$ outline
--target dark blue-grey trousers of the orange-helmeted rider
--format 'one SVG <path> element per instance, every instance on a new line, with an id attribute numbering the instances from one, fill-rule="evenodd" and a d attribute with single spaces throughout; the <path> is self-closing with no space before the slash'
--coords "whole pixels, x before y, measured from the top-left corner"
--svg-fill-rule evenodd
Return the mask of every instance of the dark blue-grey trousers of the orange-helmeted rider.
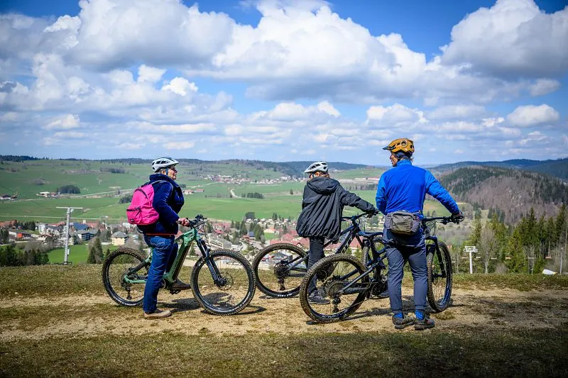
<path id="1" fill-rule="evenodd" d="M 388 297 L 391 299 L 391 310 L 395 314 L 403 312 L 403 267 L 408 261 L 414 279 L 414 307 L 424 311 L 428 279 L 426 243 L 422 230 L 412 236 L 400 237 L 385 229 L 383 243 L 388 260 Z"/>

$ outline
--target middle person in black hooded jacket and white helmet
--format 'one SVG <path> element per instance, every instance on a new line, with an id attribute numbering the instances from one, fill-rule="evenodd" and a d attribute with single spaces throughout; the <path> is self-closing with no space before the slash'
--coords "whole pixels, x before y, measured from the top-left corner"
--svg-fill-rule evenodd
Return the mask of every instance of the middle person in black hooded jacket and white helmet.
<path id="1" fill-rule="evenodd" d="M 296 231 L 303 238 L 310 238 L 310 255 L 307 269 L 324 257 L 324 240 L 336 240 L 341 233 L 344 206 L 355 206 L 366 213 L 377 213 L 375 206 L 356 194 L 343 189 L 329 177 L 327 162 L 314 162 L 304 171 L 309 179 L 304 188 L 302 212 L 297 218 Z M 308 301 L 312 304 L 329 304 L 318 292 L 315 280 L 307 288 Z"/>

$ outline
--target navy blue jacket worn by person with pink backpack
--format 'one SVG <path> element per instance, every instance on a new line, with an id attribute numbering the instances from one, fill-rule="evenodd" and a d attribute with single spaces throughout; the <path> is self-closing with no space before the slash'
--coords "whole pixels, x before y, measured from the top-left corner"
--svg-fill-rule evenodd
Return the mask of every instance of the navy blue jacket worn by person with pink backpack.
<path id="1" fill-rule="evenodd" d="M 161 181 L 161 182 L 158 182 Z M 178 213 L 183 206 L 182 189 L 173 179 L 165 174 L 152 174 L 150 182 L 154 183 L 154 199 L 152 206 L 158 211 L 158 222 L 139 226 L 143 233 L 148 235 L 175 235 L 178 233 Z"/>

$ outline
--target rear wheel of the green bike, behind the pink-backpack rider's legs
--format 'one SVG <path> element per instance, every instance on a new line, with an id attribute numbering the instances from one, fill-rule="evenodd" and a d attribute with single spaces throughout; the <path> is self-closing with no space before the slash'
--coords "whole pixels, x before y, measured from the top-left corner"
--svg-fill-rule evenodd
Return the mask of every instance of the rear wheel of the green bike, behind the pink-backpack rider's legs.
<path id="1" fill-rule="evenodd" d="M 149 263 L 138 250 L 121 247 L 112 252 L 102 265 L 104 289 L 117 304 L 140 306 L 148 279 Z"/>

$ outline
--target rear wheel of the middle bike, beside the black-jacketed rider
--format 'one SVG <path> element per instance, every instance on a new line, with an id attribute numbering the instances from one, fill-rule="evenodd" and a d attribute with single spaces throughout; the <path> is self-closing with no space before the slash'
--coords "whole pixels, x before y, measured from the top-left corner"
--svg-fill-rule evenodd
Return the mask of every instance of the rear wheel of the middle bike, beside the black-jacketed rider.
<path id="1" fill-rule="evenodd" d="M 290 298 L 300 291 L 306 274 L 305 250 L 290 243 L 269 245 L 256 254 L 253 270 L 256 286 L 275 298 Z"/>

